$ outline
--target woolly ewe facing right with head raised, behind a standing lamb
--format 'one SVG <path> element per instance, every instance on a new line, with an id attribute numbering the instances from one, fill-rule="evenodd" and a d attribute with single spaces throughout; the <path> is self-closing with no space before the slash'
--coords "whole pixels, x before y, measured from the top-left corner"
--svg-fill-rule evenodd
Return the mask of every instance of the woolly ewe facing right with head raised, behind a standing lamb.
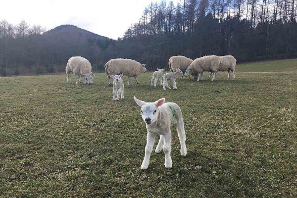
<path id="1" fill-rule="evenodd" d="M 135 60 L 123 59 L 123 58 L 111 59 L 105 64 L 104 67 L 105 67 L 105 73 L 108 76 L 109 85 L 111 85 L 111 78 L 109 74 L 119 75 L 122 73 L 126 75 L 128 79 L 128 85 L 130 85 L 129 77 L 134 77 L 137 84 L 139 84 L 137 77 L 141 73 L 147 71 L 146 64 L 140 64 Z"/>

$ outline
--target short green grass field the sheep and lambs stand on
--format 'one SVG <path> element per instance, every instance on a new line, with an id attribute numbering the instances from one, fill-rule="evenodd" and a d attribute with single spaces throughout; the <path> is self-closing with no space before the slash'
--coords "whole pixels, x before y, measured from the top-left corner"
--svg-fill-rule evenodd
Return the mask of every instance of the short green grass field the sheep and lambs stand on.
<path id="1" fill-rule="evenodd" d="M 0 78 L 0 197 L 296 198 L 297 60 L 237 71 L 166 92 L 146 73 L 120 101 L 103 73 L 77 87 L 74 75 Z M 188 155 L 172 128 L 172 169 L 163 153 L 140 169 L 146 127 L 133 96 L 180 105 Z"/>

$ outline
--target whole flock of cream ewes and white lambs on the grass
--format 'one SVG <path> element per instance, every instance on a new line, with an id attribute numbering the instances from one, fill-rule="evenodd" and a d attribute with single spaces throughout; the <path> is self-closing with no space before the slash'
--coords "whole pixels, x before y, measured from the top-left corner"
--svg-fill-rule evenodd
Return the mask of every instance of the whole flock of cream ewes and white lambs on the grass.
<path id="1" fill-rule="evenodd" d="M 210 75 L 208 79 L 214 81 L 218 71 L 228 71 L 228 79 L 230 79 L 230 72 L 233 73 L 233 80 L 235 79 L 235 65 L 236 59 L 231 55 L 216 56 L 209 55 L 195 59 L 194 61 L 185 56 L 172 56 L 169 59 L 169 69 L 171 72 L 163 75 L 164 69 L 157 69 L 153 72 L 150 84 L 152 87 L 156 87 L 156 83 L 159 80 L 160 85 L 166 91 L 166 88 L 170 89 L 168 82 L 171 80 L 173 83 L 173 89 L 177 89 L 175 79 L 179 76 L 182 78 L 194 76 L 197 81 L 200 80 L 200 76 L 203 79 L 203 72 L 208 71 Z M 92 84 L 94 79 L 94 73 L 91 71 L 91 63 L 83 57 L 74 56 L 69 58 L 66 66 L 67 81 L 69 74 L 72 71 L 76 75 L 76 85 L 80 82 L 80 77 L 84 78 L 84 84 Z M 119 100 L 124 98 L 124 82 L 122 76 L 126 75 L 128 78 L 128 85 L 130 85 L 129 77 L 134 77 L 137 84 L 139 83 L 137 77 L 146 72 L 146 65 L 141 64 L 131 59 L 111 59 L 105 64 L 105 73 L 108 76 L 109 85 L 111 85 L 111 79 L 113 79 L 112 86 L 112 99 Z M 182 156 L 187 155 L 186 148 L 186 133 L 184 128 L 183 115 L 178 104 L 174 102 L 166 102 L 165 99 L 158 99 L 155 102 L 145 102 L 134 97 L 135 102 L 141 106 L 142 118 L 147 127 L 147 145 L 145 148 L 145 157 L 141 165 L 141 169 L 147 169 L 149 165 L 150 154 L 153 149 L 153 144 L 156 135 L 160 135 L 158 145 L 155 149 L 156 153 L 159 153 L 162 149 L 165 153 L 165 167 L 172 167 L 171 160 L 171 130 L 172 124 L 176 124 L 178 137 L 180 139 L 180 153 Z"/>

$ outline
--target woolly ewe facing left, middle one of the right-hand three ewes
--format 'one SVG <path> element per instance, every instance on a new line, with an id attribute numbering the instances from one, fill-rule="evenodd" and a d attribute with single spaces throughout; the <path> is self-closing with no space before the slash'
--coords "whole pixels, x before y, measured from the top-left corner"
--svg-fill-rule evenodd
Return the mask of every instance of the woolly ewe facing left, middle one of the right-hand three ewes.
<path id="1" fill-rule="evenodd" d="M 184 76 L 186 77 L 190 75 L 195 76 L 196 74 L 198 74 L 197 81 L 199 81 L 200 75 L 204 71 L 210 71 L 214 73 L 211 79 L 211 81 L 214 81 L 216 77 L 216 72 L 220 68 L 220 64 L 221 64 L 220 58 L 219 56 L 216 56 L 216 55 L 209 55 L 209 56 L 196 58 L 191 63 L 191 65 L 186 69 L 186 73 L 184 74 Z"/>

